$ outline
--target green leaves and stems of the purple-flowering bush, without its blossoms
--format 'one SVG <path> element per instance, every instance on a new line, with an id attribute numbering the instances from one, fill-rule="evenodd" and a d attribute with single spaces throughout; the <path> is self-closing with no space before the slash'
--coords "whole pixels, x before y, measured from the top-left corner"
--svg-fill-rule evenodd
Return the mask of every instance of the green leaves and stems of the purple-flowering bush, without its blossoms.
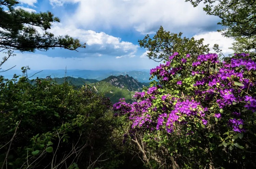
<path id="1" fill-rule="evenodd" d="M 152 82 L 151 86 L 155 87 L 160 84 L 161 87 L 157 87 L 154 94 L 149 94 L 149 90 L 145 89 L 144 95 L 141 96 L 142 99 L 138 101 L 138 103 L 143 103 L 148 100 L 152 104 L 150 107 L 144 108 L 143 105 L 145 104 L 132 106 L 124 102 L 119 102 L 121 104 L 116 105 L 121 110 L 119 112 L 120 116 L 117 117 L 120 121 L 119 132 L 129 135 L 127 136 L 129 138 L 126 138 L 127 147 L 138 153 L 147 168 L 175 168 L 175 165 L 179 165 L 177 168 L 191 169 L 214 167 L 255 168 L 255 112 L 246 109 L 246 103 L 237 100 L 223 108 L 220 108 L 220 105 L 216 102 L 216 99 L 222 98 L 219 93 L 227 88 L 233 88 L 239 92 L 236 94 L 231 90 L 232 92 L 229 92 L 226 96 L 234 94 L 242 99 L 245 95 L 250 94 L 254 98 L 255 86 L 241 90 L 246 85 L 244 81 L 239 80 L 236 75 L 225 77 L 226 72 L 229 72 L 228 69 L 231 69 L 231 65 L 228 63 L 231 59 L 235 60 L 239 56 L 226 58 L 226 62 L 218 61 L 215 64 L 214 61 L 208 59 L 201 61 L 200 65 L 194 67 L 189 65 L 193 64 L 197 58 L 187 57 L 186 63 L 183 64 L 181 60 L 184 58 L 186 58 L 186 55 L 176 55 L 174 59 L 168 61 L 170 67 L 162 67 L 162 70 L 170 71 L 183 66 L 181 71 L 177 71 L 176 74 L 169 74 L 168 80 L 162 80 L 163 75 L 159 73 L 162 71 L 159 70 L 160 68 L 156 71 L 155 75 L 159 81 Z M 255 61 L 255 57 L 250 56 L 249 59 L 252 64 L 255 64 L 251 59 Z M 245 57 L 241 60 L 245 60 Z M 224 65 L 226 65 L 226 70 L 223 68 Z M 233 68 L 238 73 L 242 73 L 244 78 L 250 79 L 251 83 L 254 83 L 254 69 L 251 71 L 244 71 L 243 69 L 245 69 L 245 66 Z M 223 70 L 225 70 L 225 73 L 220 73 Z M 202 79 L 210 79 L 211 81 L 211 76 L 216 73 L 222 74 L 225 78 L 222 78 L 221 75 L 217 76 L 219 82 L 216 82 L 214 87 L 211 87 L 207 82 L 196 85 Z M 153 76 L 154 74 L 152 78 Z M 227 83 L 224 84 L 221 79 Z M 182 84 L 177 84 L 177 81 L 181 81 Z M 227 85 L 230 86 L 227 87 Z M 216 91 L 210 92 L 213 88 Z M 197 94 L 195 91 L 203 92 Z M 206 92 L 204 93 L 204 91 Z M 152 99 L 152 96 L 154 96 L 154 99 Z M 171 117 L 175 117 L 174 113 L 171 112 L 175 110 L 175 105 L 178 102 L 175 98 L 183 103 L 182 105 L 179 104 L 179 109 L 182 109 L 183 105 L 186 107 L 191 99 L 200 103 L 194 108 L 184 108 L 186 109 L 184 112 L 175 111 L 178 119 L 171 123 L 174 119 L 171 119 Z M 253 105 L 253 99 L 250 102 Z M 136 109 L 137 107 L 139 108 Z M 207 108 L 207 110 L 204 110 L 204 108 Z M 189 111 L 195 111 L 196 113 L 191 116 L 187 113 Z M 246 129 L 240 131 L 240 133 L 231 129 L 229 120 L 236 118 L 233 112 L 240 112 L 241 117 L 239 119 L 244 120 L 239 128 L 243 129 L 246 126 Z M 140 120 L 143 113 L 150 116 L 152 123 L 144 123 L 144 119 Z M 167 114 L 165 119 L 169 117 L 171 120 L 163 120 L 160 128 L 155 129 L 156 123 L 160 121 L 160 115 L 164 113 Z M 216 114 L 219 113 L 221 117 L 217 118 Z M 203 124 L 202 119 L 207 120 L 207 123 Z M 133 123 L 141 124 L 141 126 L 131 127 Z M 166 131 L 167 123 L 169 123 L 170 128 L 172 128 L 170 123 L 173 124 L 172 132 Z"/>

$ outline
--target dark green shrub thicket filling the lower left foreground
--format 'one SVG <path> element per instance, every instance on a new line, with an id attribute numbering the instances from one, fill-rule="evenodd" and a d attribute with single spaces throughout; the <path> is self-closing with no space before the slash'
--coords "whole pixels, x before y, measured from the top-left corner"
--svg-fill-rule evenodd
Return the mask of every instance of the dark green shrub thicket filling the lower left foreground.
<path id="1" fill-rule="evenodd" d="M 8 168 L 102 166 L 97 159 L 108 159 L 102 144 L 113 130 L 110 101 L 90 88 L 17 78 L 0 79 L 0 165 L 8 154 Z"/>

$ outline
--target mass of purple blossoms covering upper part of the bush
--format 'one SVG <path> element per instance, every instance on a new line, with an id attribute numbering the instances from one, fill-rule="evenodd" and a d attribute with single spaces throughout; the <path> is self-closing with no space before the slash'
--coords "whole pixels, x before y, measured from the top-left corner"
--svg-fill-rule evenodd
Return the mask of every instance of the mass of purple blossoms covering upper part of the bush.
<path id="1" fill-rule="evenodd" d="M 138 102 L 127 104 L 121 99 L 114 110 L 128 114 L 134 129 L 172 133 L 182 125 L 207 127 L 222 121 L 233 132 L 245 132 L 244 117 L 256 111 L 254 71 L 256 63 L 245 53 L 221 61 L 214 53 L 192 58 L 174 52 L 165 64 L 150 71 L 159 85 L 135 93 Z M 188 77 L 193 80 L 183 81 Z M 195 92 L 186 91 L 188 87 Z"/>

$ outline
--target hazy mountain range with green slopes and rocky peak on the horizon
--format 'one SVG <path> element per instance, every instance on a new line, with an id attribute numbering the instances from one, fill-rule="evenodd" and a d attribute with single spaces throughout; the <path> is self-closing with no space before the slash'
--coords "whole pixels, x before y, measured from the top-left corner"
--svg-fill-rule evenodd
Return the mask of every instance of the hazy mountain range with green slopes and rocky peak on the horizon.
<path id="1" fill-rule="evenodd" d="M 13 75 L 22 75 L 21 71 L 9 70 L 1 72 L 0 75 L 11 79 Z M 63 77 L 65 76 L 65 77 Z M 29 79 L 40 77 L 52 79 L 57 84 L 65 81 L 76 88 L 88 85 L 95 88 L 98 93 L 109 97 L 112 103 L 118 102 L 119 98 L 126 98 L 132 102 L 132 95 L 135 91 L 141 91 L 144 86 L 149 86 L 149 71 L 127 71 L 118 72 L 112 70 L 91 71 L 91 70 L 28 70 Z M 47 78 L 46 78 L 47 77 Z"/>

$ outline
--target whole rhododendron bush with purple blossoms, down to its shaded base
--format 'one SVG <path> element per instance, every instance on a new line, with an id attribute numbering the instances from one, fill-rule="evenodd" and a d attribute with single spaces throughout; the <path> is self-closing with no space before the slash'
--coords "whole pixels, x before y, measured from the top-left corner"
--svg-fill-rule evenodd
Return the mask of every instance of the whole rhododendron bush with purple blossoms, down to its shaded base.
<path id="1" fill-rule="evenodd" d="M 173 53 L 151 69 L 148 89 L 113 109 L 148 168 L 256 168 L 256 63 Z"/>

